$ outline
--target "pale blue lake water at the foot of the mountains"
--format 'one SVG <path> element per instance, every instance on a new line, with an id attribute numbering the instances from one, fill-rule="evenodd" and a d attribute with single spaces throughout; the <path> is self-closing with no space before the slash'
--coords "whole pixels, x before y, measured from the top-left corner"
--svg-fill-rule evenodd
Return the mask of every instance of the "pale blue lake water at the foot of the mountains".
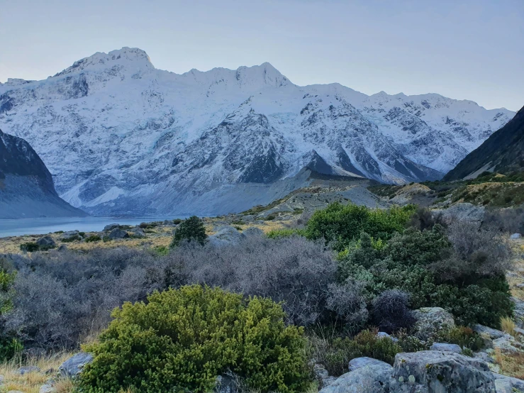
<path id="1" fill-rule="evenodd" d="M 164 221 L 165 219 L 184 217 L 60 217 L 60 218 L 20 218 L 18 220 L 0 220 L 0 238 L 6 236 L 41 235 L 56 231 L 80 232 L 101 231 L 110 223 L 137 225 L 143 222 Z"/>

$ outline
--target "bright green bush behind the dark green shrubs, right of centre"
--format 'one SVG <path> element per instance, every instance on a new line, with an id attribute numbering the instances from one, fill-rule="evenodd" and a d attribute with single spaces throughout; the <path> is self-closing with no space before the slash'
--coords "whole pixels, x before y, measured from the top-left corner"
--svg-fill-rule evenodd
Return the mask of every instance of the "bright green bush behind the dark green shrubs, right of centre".
<path id="1" fill-rule="evenodd" d="M 342 250 L 352 240 L 359 238 L 362 232 L 374 239 L 386 240 L 393 233 L 403 231 L 414 209 L 411 205 L 389 210 L 368 209 L 366 206 L 335 202 L 311 216 L 307 224 L 307 236 L 334 243 L 337 250 Z"/>

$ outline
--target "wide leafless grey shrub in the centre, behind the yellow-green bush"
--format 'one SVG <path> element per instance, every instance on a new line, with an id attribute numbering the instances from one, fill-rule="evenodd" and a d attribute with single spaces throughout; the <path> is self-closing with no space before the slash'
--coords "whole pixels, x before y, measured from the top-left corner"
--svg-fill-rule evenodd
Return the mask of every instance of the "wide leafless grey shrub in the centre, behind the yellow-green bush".
<path id="1" fill-rule="evenodd" d="M 308 326 L 332 316 L 326 300 L 337 265 L 321 241 L 249 236 L 238 245 L 189 244 L 170 257 L 184 266 L 190 283 L 284 301 L 291 323 Z"/>

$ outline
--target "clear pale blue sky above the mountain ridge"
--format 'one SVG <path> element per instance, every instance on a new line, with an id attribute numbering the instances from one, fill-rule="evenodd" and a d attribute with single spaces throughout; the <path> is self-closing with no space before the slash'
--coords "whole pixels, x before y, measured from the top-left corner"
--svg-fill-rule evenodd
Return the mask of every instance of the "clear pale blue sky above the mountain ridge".
<path id="1" fill-rule="evenodd" d="M 299 85 L 524 105 L 524 0 L 0 0 L 0 82 L 123 46 L 177 73 L 267 61 Z"/>

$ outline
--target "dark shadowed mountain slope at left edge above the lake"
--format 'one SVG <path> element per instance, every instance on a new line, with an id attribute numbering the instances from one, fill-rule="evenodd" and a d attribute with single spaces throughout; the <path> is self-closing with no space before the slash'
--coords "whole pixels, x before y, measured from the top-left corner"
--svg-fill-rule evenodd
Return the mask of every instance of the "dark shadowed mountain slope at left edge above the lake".
<path id="1" fill-rule="evenodd" d="M 87 216 L 60 199 L 52 177 L 23 139 L 0 130 L 0 218 Z"/>

